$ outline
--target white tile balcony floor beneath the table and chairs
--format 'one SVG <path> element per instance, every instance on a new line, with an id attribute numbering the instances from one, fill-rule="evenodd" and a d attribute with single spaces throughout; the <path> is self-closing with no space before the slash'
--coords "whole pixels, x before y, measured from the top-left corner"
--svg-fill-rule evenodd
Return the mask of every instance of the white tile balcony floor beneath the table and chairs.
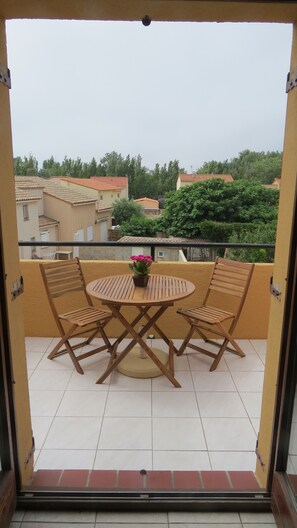
<path id="1" fill-rule="evenodd" d="M 226 353 L 214 372 L 207 356 L 176 357 L 181 389 L 118 372 L 96 385 L 108 356 L 80 375 L 47 359 L 54 342 L 26 338 L 35 469 L 255 469 L 266 341 L 240 341 L 246 358 Z"/>

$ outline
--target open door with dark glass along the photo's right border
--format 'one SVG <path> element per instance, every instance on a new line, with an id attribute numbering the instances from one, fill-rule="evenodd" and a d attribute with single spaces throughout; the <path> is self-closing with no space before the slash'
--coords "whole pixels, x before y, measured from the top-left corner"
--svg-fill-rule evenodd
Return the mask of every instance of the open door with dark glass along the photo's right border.
<path id="1" fill-rule="evenodd" d="M 279 528 L 297 526 L 297 196 L 287 283 L 272 474 L 272 509 Z"/>

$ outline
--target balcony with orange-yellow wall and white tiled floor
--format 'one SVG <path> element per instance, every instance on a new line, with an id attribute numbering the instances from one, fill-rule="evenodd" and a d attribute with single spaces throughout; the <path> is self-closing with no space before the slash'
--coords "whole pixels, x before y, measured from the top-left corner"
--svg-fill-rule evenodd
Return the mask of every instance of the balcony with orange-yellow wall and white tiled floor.
<path id="1" fill-rule="evenodd" d="M 82 266 L 87 282 L 129 272 L 126 262 L 84 261 Z M 272 268 L 255 266 L 237 327 L 246 357 L 225 353 L 217 370 L 209 372 L 210 358 L 189 351 L 175 358 L 182 385 L 176 389 L 164 376 L 136 379 L 119 372 L 97 385 L 107 362 L 104 353 L 84 360 L 84 375 L 67 356 L 48 360 L 57 330 L 38 262 L 22 261 L 35 469 L 254 471 Z M 156 263 L 153 272 L 194 282 L 190 306 L 201 301 L 211 269 L 212 263 Z M 176 314 L 180 304 L 161 320 L 177 346 L 186 331 Z M 118 322 L 108 326 L 111 338 L 119 332 Z M 157 335 L 149 344 L 165 346 Z"/>

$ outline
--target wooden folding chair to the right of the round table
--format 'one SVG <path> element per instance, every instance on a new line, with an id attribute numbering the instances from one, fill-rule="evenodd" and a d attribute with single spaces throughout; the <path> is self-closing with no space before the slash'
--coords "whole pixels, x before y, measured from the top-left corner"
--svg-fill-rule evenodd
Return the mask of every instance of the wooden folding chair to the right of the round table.
<path id="1" fill-rule="evenodd" d="M 209 287 L 202 305 L 197 308 L 181 308 L 177 310 L 177 313 L 181 314 L 190 325 L 190 330 L 177 352 L 178 356 L 183 354 L 186 347 L 210 356 L 214 358 L 210 367 L 211 371 L 217 368 L 225 350 L 240 357 L 245 356 L 233 338 L 233 332 L 246 299 L 253 270 L 254 264 L 236 262 L 219 257 L 216 259 Z M 213 305 L 212 301 L 214 296 L 216 304 Z M 232 303 L 232 312 L 224 309 L 226 302 L 230 300 L 235 300 L 235 303 Z M 214 352 L 190 343 L 190 339 L 195 332 L 205 343 L 212 343 L 219 347 L 218 353 L 215 354 Z M 222 337 L 223 343 L 220 344 L 207 337 L 209 333 Z M 229 343 L 233 348 L 228 346 Z"/>

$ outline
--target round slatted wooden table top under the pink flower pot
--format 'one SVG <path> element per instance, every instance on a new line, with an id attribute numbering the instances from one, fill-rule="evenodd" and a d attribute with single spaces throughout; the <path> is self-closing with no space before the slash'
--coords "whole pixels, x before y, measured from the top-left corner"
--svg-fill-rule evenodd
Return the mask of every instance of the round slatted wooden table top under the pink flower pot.
<path id="1" fill-rule="evenodd" d="M 133 275 L 102 277 L 87 285 L 87 292 L 93 297 L 110 304 L 157 305 L 188 297 L 195 291 L 195 285 L 179 277 L 149 275 L 144 288 L 134 286 Z"/>

